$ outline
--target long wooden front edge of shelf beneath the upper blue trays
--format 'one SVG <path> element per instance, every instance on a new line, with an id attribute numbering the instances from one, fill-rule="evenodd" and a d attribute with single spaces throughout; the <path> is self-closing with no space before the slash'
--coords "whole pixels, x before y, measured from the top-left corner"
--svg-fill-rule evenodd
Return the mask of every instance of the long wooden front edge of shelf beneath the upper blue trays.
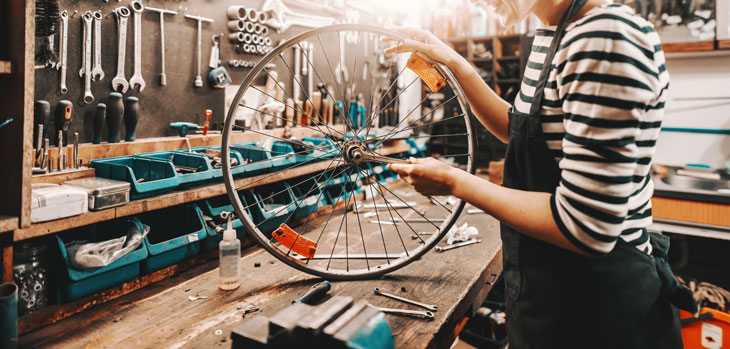
<path id="1" fill-rule="evenodd" d="M 398 141 L 383 147 L 382 155 L 403 153 L 410 149 L 404 141 Z M 317 173 L 327 169 L 329 161 L 320 161 L 311 165 L 297 167 L 292 170 L 280 171 L 274 175 L 271 173 L 255 177 L 241 178 L 235 181 L 237 187 L 253 188 L 282 180 L 299 177 L 302 175 Z M 154 211 L 170 206 L 177 206 L 189 202 L 212 198 L 226 194 L 225 184 L 216 183 L 196 186 L 187 190 L 176 190 L 167 194 L 154 196 L 147 199 L 133 200 L 128 204 L 109 208 L 101 211 L 90 211 L 78 216 L 57 219 L 53 221 L 32 224 L 27 228 L 15 231 L 14 240 L 22 241 L 39 236 L 54 234 L 59 231 L 76 228 L 84 225 L 107 221 L 114 218 L 126 217 L 143 212 Z"/>

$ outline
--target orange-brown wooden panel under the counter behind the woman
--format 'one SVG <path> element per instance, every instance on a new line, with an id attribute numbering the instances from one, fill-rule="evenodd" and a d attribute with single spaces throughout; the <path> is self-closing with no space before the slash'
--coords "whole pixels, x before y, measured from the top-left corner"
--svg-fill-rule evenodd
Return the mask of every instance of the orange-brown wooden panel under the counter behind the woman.
<path id="1" fill-rule="evenodd" d="M 653 197 L 654 217 L 685 222 L 730 226 L 730 205 Z"/>

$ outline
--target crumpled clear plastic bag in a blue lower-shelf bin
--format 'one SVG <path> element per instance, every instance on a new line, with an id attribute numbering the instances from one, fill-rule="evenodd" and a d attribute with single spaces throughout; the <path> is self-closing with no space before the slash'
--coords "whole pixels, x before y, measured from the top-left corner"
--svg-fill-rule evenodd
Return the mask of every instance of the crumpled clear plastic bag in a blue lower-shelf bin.
<path id="1" fill-rule="evenodd" d="M 134 225 L 130 228 L 126 236 L 112 240 L 92 243 L 84 243 L 84 241 L 70 242 L 66 245 L 66 250 L 68 251 L 71 266 L 77 270 L 105 267 L 125 254 L 136 250 L 142 244 L 147 233 L 150 232 L 148 225 L 141 225 L 144 231 L 139 231 L 138 226 Z"/>

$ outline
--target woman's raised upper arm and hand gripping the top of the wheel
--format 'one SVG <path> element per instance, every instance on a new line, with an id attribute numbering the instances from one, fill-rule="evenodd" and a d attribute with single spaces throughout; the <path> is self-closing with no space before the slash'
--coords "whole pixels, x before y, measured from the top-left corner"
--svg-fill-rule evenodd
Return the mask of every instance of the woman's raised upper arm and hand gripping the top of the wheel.
<path id="1" fill-rule="evenodd" d="M 432 33 L 414 28 L 396 28 L 396 32 L 407 39 L 400 45 L 390 47 L 387 53 L 418 51 L 434 61 L 441 62 L 451 70 L 459 81 L 472 112 L 477 119 L 502 142 L 507 143 L 509 103 L 499 97 L 477 74 L 471 64 L 451 47 Z M 394 39 L 387 39 L 395 41 Z"/>

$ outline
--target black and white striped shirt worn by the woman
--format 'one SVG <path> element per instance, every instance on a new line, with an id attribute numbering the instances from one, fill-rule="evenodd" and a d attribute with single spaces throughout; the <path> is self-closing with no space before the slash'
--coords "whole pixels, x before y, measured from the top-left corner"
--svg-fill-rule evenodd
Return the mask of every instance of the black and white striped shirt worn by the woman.
<path id="1" fill-rule="evenodd" d="M 518 112 L 530 112 L 555 29 L 535 34 Z M 566 28 L 545 87 L 542 128 L 562 170 L 553 217 L 590 254 L 611 252 L 619 237 L 651 253 L 649 168 L 668 84 L 658 34 L 629 7 L 597 7 Z"/>

